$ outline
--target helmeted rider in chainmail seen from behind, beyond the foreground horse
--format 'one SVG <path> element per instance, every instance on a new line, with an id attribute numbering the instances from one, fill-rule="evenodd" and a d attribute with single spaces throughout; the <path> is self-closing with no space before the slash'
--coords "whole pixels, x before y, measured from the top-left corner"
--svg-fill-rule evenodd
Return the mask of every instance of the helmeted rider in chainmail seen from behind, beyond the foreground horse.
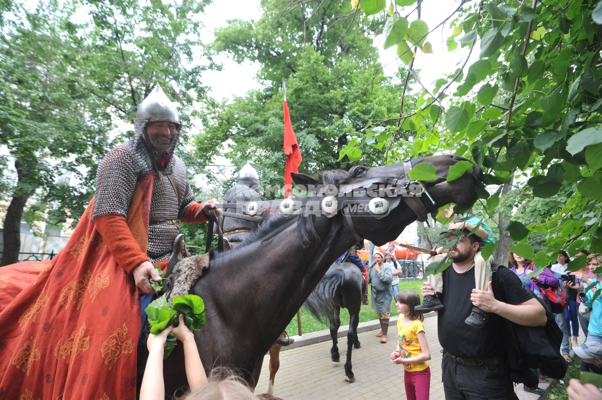
<path id="1" fill-rule="evenodd" d="M 261 197 L 257 193 L 259 189 L 259 174 L 248 162 L 238 172 L 236 184 L 228 189 L 222 203 L 247 203 L 259 202 Z M 240 244 L 249 235 L 255 226 L 254 221 L 241 218 L 220 217 L 220 227 L 223 235 L 232 247 Z"/>

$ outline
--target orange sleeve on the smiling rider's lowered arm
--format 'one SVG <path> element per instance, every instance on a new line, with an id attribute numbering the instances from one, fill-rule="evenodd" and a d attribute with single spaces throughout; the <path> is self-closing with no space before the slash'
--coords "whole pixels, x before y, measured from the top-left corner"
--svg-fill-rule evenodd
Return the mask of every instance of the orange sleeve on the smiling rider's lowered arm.
<path id="1" fill-rule="evenodd" d="M 134 268 L 149 260 L 121 215 L 99 215 L 94 223 L 111 256 L 125 272 L 131 274 Z"/>

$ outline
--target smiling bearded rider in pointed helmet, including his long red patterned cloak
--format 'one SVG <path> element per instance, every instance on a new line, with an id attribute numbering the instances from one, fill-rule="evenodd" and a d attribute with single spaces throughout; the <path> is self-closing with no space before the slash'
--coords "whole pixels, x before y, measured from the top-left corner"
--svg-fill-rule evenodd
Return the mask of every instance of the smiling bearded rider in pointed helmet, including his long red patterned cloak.
<path id="1" fill-rule="evenodd" d="M 99 165 L 66 247 L 0 268 L 0 397 L 135 398 L 140 294 L 160 280 L 152 263 L 165 270 L 177 221 L 206 221 L 217 202 L 194 202 L 173 155 L 180 129 L 157 85 L 138 106 L 134 138 Z"/>

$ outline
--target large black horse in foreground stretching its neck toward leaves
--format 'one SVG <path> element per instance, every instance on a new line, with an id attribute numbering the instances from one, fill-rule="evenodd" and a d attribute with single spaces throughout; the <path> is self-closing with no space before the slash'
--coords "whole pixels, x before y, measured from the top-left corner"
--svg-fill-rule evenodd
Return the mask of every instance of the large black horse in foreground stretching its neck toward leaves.
<path id="1" fill-rule="evenodd" d="M 392 197 L 386 218 L 369 212 L 352 220 L 341 212 L 270 215 L 233 250 L 212 252 L 211 266 L 192 290 L 205 301 L 206 325 L 203 330 L 195 331 L 194 337 L 206 371 L 214 366 L 234 366 L 255 387 L 264 355 L 332 262 L 358 241 L 355 236 L 382 245 L 397 238 L 417 219 L 417 214 L 426 215 L 448 203 L 465 205 L 474 201 L 477 186 L 482 186 L 480 168 L 474 166 L 472 174 L 452 182 L 442 178 L 447 176 L 450 165 L 459 161 L 464 158 L 445 155 L 412 161 L 414 165 L 418 162 L 435 165 L 438 178 L 423 182 L 433 202 L 426 194 L 412 197 L 413 200 Z M 293 180 L 305 187 L 323 184 L 337 188 L 367 181 L 400 182 L 409 180 L 408 164 L 357 166 L 349 171 L 327 171 L 318 178 L 293 174 Z M 370 197 L 365 194 L 365 199 Z M 164 362 L 164 377 L 167 396 L 187 385 L 182 346 L 176 346 Z"/>

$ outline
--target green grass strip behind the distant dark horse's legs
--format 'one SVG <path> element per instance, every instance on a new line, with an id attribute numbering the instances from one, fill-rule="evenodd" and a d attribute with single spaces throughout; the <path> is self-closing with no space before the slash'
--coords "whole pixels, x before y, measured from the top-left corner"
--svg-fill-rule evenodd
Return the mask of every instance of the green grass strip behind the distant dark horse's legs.
<path id="1" fill-rule="evenodd" d="M 423 282 L 424 281 L 421 280 L 412 282 L 400 281 L 399 290 L 413 290 L 417 292 L 420 296 L 420 286 L 422 286 Z M 422 300 L 422 297 L 420 297 L 420 300 Z M 368 301 L 371 301 L 370 288 L 368 288 Z M 397 312 L 397 307 L 395 306 L 395 302 L 393 301 L 391 303 L 391 316 L 394 315 L 399 315 L 399 313 Z M 371 321 L 373 319 L 378 319 L 376 311 L 374 311 L 372 307 L 364 306 L 362 304 L 362 307 L 359 311 L 359 322 Z M 347 312 L 347 310 L 344 309 L 341 310 L 341 326 L 343 325 L 349 325 L 349 313 Z M 303 334 L 328 329 L 329 326 L 330 325 L 327 319 L 325 323 L 320 322 L 317 319 L 315 319 L 314 316 L 312 316 L 308 312 L 308 310 L 305 309 L 305 307 L 301 307 L 301 330 Z M 297 329 L 297 318 L 293 318 L 293 321 L 291 321 L 290 324 L 288 324 L 287 332 L 291 336 L 299 334 L 299 330 Z"/>

